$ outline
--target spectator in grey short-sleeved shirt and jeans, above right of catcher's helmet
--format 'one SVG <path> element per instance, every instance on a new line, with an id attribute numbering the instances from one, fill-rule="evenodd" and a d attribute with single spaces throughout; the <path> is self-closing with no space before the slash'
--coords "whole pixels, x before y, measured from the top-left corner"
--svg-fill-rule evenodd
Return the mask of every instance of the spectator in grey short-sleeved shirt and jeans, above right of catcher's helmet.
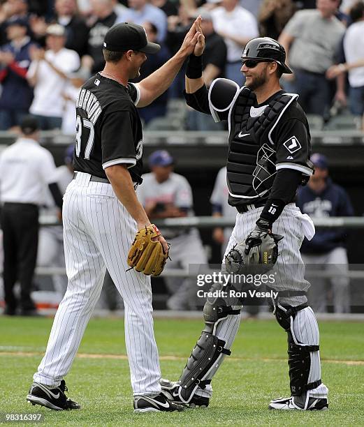
<path id="1" fill-rule="evenodd" d="M 293 77 L 284 77 L 284 89 L 300 95 L 300 105 L 307 114 L 323 116 L 330 104 L 325 73 L 335 61 L 345 31 L 344 25 L 335 17 L 339 3 L 340 0 L 317 0 L 316 10 L 298 11 L 278 40 L 294 71 Z M 344 79 L 340 77 L 335 99 L 342 103 L 346 101 Z"/>

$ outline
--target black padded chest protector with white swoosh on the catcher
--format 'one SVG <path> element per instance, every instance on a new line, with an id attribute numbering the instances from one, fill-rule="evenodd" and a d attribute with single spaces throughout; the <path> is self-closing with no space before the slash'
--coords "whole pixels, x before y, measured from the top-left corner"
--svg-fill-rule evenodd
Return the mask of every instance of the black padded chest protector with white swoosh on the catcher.
<path id="1" fill-rule="evenodd" d="M 267 166 L 269 174 L 275 173 L 275 142 L 270 139 L 270 131 L 275 128 L 284 110 L 295 98 L 296 96 L 293 97 L 289 93 L 277 93 L 267 105 L 254 107 L 257 105 L 255 94 L 246 87 L 241 89 L 231 107 L 229 118 L 226 166 L 229 202 L 233 200 L 231 204 L 251 204 L 267 196 L 266 189 L 254 189 L 254 170 L 267 147 L 270 152 Z M 259 151 L 263 146 L 264 149 Z"/>

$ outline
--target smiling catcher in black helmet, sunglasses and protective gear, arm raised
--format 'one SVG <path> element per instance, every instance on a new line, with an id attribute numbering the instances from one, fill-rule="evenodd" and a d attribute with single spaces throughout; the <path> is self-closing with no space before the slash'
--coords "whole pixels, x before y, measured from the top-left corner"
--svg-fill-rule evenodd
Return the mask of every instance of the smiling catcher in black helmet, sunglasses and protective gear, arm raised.
<path id="1" fill-rule="evenodd" d="M 203 40 L 189 58 L 186 70 L 187 104 L 228 120 L 228 202 L 238 215 L 226 254 L 245 242 L 245 254 L 260 246 L 267 234 L 280 234 L 277 276 L 272 288 L 273 313 L 288 334 L 291 396 L 271 400 L 275 410 L 325 410 L 328 388 L 321 382 L 319 327 L 305 291 L 300 245 L 312 239 L 314 226 L 293 203 L 300 183 L 312 174 L 310 130 L 298 96 L 279 86 L 286 66 L 282 45 L 272 38 L 250 40 L 242 52 L 246 86 L 217 79 L 207 91 L 201 77 Z M 224 263 L 223 263 L 224 271 Z M 214 283 L 212 290 L 221 290 Z M 231 345 L 240 323 L 242 301 L 208 298 L 203 314 L 205 329 L 187 361 L 180 380 L 163 382 L 170 399 L 187 405 L 208 405 L 211 380 Z"/>

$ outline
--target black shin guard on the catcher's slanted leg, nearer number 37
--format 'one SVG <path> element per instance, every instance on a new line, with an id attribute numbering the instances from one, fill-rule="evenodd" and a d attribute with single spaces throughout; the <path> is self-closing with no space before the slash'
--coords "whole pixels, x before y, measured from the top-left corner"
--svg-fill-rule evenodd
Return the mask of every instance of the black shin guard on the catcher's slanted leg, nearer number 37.
<path id="1" fill-rule="evenodd" d="M 219 284 L 213 285 L 212 290 L 217 287 Z M 216 334 L 219 323 L 228 315 L 240 315 L 240 307 L 234 309 L 231 306 L 226 306 L 221 299 L 208 299 L 206 301 L 203 307 L 205 329 L 203 329 L 201 337 L 198 338 L 180 380 L 177 382 L 180 384 L 179 396 L 182 402 L 189 403 L 198 387 L 205 389 L 206 385 L 210 384 L 224 357 L 231 354 L 231 351 L 226 348 L 226 340 L 219 338 Z M 235 333 L 233 334 L 234 337 Z"/>

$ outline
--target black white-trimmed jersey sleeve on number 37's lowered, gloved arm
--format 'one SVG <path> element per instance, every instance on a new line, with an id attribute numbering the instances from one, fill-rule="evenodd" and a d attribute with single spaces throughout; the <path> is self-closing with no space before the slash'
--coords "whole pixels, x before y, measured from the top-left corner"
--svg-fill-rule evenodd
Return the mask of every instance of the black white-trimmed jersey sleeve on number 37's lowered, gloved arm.
<path id="1" fill-rule="evenodd" d="M 133 114 L 130 111 L 114 111 L 106 114 L 101 126 L 102 165 L 106 167 L 124 163 L 136 165 Z"/>

